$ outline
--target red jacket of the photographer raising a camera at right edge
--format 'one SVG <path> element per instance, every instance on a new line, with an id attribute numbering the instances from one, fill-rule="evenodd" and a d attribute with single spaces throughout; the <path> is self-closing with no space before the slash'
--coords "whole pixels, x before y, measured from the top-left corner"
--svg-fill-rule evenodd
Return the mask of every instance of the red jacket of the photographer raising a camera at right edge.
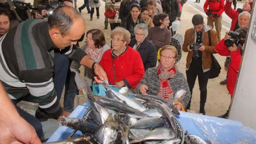
<path id="1" fill-rule="evenodd" d="M 230 96 L 233 97 L 235 84 L 237 81 L 237 74 L 240 68 L 240 62 L 242 56 L 240 54 L 240 48 L 237 51 L 230 52 L 227 46 L 224 44 L 224 39 L 222 39 L 218 45 L 216 45 L 215 50 L 221 56 L 230 56 L 230 63 L 227 70 L 227 90 Z"/>

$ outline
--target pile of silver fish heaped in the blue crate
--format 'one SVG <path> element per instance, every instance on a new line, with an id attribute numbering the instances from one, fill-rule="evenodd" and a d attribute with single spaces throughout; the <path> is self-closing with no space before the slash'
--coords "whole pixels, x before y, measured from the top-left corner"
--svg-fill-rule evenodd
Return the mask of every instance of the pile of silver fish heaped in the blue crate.
<path id="1" fill-rule="evenodd" d="M 88 93 L 90 113 L 85 119 L 59 118 L 60 125 L 81 131 L 101 144 L 205 144 L 184 135 L 172 103 L 152 95 L 122 94 L 109 88 L 106 97 Z"/>

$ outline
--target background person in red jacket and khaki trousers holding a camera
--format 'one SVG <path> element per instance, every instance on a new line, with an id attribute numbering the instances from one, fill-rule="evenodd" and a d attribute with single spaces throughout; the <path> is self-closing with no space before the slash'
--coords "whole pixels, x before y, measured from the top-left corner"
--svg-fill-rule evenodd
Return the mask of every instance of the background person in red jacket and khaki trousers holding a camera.
<path id="1" fill-rule="evenodd" d="M 208 9 L 207 9 L 208 8 Z M 215 25 L 215 29 L 217 31 L 218 40 L 221 40 L 221 16 L 224 11 L 224 0 L 206 0 L 204 4 L 204 11 L 207 17 L 207 25 L 212 28 L 213 23 Z"/>

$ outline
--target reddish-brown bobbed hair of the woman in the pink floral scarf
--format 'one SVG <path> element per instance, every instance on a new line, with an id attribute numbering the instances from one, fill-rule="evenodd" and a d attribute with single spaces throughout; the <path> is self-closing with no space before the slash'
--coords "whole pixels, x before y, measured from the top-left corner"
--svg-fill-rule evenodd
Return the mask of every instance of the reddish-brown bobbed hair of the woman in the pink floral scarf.
<path id="1" fill-rule="evenodd" d="M 99 29 L 91 29 L 86 32 L 86 37 L 88 33 L 92 34 L 92 39 L 94 41 L 94 45 L 97 49 L 103 47 L 106 44 L 105 36 L 102 30 Z"/>

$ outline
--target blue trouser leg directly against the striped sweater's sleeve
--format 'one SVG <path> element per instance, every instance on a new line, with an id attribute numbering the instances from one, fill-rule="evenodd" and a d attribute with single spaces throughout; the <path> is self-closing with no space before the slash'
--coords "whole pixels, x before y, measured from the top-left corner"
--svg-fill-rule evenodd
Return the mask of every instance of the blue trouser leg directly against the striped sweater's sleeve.
<path id="1" fill-rule="evenodd" d="M 67 55 L 62 54 L 60 52 L 54 53 L 54 76 L 53 76 L 53 83 L 54 88 L 57 94 L 58 100 L 61 99 L 61 94 L 65 85 L 67 71 L 69 68 L 69 58 Z"/>

